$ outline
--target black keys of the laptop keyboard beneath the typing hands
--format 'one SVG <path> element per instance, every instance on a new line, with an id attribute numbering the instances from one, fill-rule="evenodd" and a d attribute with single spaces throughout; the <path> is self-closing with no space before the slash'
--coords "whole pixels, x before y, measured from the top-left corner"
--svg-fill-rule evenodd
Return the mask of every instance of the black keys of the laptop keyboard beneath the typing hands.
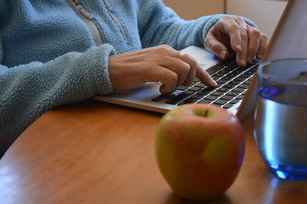
<path id="1" fill-rule="evenodd" d="M 162 98 L 167 98 L 166 103 L 172 105 L 206 103 L 229 109 L 244 98 L 259 62 L 255 59 L 251 64 L 240 68 L 235 61 L 235 56 L 233 56 L 206 69 L 217 83 L 215 87 L 207 87 L 195 78 L 191 85 L 177 87 L 176 90 L 182 91 L 178 95 L 174 94 L 176 91 L 174 90 L 170 93 L 160 94 L 152 100 L 160 101 Z"/>

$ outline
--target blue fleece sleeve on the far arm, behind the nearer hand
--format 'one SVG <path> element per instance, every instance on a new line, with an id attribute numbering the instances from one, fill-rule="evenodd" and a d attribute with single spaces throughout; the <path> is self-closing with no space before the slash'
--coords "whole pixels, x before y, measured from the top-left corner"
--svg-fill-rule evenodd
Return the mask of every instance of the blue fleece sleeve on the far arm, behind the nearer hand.
<path id="1" fill-rule="evenodd" d="M 180 50 L 190 45 L 204 46 L 209 29 L 225 16 L 225 14 L 216 14 L 185 21 L 171 8 L 165 7 L 160 0 L 150 2 L 140 0 L 138 6 L 139 30 L 144 47 L 167 44 Z M 256 27 L 254 22 L 243 19 Z"/>

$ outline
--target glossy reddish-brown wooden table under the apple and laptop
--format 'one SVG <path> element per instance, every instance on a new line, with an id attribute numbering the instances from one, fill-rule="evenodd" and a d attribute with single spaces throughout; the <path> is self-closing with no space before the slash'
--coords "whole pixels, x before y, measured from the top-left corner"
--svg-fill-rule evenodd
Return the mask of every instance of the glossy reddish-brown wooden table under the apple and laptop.
<path id="1" fill-rule="evenodd" d="M 88 100 L 34 122 L 0 160 L 1 204 L 306 204 L 307 181 L 270 174 L 244 123 L 245 157 L 222 197 L 190 202 L 160 174 L 154 137 L 162 114 Z"/>

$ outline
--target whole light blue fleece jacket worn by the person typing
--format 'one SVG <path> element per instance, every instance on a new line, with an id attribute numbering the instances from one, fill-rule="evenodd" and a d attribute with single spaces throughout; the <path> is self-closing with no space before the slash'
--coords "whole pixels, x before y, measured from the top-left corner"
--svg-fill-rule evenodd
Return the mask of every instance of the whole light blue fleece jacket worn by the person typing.
<path id="1" fill-rule="evenodd" d="M 79 4 L 101 45 L 66 0 L 0 1 L 0 155 L 51 108 L 112 92 L 109 55 L 161 44 L 202 46 L 222 17 L 183 21 L 161 0 Z"/>

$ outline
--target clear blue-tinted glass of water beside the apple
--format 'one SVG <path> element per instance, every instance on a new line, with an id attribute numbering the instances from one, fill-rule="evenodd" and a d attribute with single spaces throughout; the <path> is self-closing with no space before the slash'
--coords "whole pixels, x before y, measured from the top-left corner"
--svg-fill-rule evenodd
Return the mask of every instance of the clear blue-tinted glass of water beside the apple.
<path id="1" fill-rule="evenodd" d="M 259 65 L 254 136 L 270 172 L 307 180 L 307 59 Z"/>

